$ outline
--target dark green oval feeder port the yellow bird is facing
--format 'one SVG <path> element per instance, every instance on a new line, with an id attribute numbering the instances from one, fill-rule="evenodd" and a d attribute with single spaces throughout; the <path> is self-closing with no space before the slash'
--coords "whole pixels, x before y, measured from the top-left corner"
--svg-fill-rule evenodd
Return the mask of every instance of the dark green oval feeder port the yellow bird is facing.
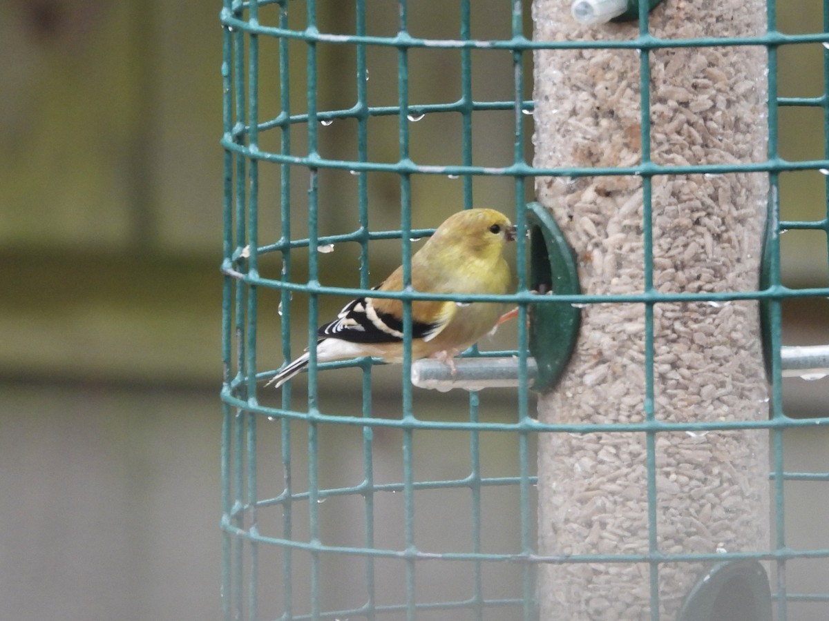
<path id="1" fill-rule="evenodd" d="M 539 294 L 579 295 L 573 250 L 552 215 L 540 203 L 526 206 L 530 232 L 530 286 Z M 533 390 L 555 387 L 579 338 L 581 310 L 569 302 L 531 304 L 530 353 L 538 377 Z"/>

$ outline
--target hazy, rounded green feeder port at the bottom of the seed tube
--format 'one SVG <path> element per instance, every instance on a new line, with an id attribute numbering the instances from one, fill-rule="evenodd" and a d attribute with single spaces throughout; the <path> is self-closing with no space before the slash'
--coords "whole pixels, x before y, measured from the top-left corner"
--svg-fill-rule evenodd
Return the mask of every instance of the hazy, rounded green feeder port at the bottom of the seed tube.
<path id="1" fill-rule="evenodd" d="M 711 567 L 682 604 L 679 621 L 771 621 L 768 575 L 758 561 Z"/>

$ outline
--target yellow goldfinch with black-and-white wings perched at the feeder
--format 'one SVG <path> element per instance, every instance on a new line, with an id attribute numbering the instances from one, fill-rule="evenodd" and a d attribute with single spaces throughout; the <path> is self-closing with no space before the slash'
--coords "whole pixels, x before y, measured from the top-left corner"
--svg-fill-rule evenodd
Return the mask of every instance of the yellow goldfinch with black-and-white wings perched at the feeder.
<path id="1" fill-rule="evenodd" d="M 504 243 L 514 241 L 516 228 L 495 209 L 467 209 L 448 217 L 411 258 L 414 291 L 441 294 L 504 294 L 511 276 L 503 258 Z M 403 267 L 374 287 L 402 291 Z M 413 301 L 411 359 L 452 358 L 492 330 L 503 305 L 487 302 Z M 403 302 L 361 297 L 349 302 L 337 319 L 323 325 L 317 343 L 318 362 L 376 356 L 389 363 L 403 361 Z M 305 352 L 268 385 L 276 388 L 308 366 Z M 452 365 L 453 366 L 453 365 Z"/>

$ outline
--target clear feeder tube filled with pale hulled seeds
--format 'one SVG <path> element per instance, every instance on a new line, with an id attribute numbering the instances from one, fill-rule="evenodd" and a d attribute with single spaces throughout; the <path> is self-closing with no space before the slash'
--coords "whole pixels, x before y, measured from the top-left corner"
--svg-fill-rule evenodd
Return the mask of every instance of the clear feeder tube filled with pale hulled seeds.
<path id="1" fill-rule="evenodd" d="M 534 165 L 566 171 L 537 199 L 584 294 L 633 296 L 584 307 L 539 402 L 572 425 L 539 437 L 539 552 L 560 559 L 540 569 L 541 619 L 676 619 L 718 555 L 768 548 L 768 431 L 740 428 L 768 418 L 758 303 L 724 294 L 758 289 L 769 184 L 746 166 L 766 159 L 765 48 L 670 41 L 762 35 L 765 3 L 579 26 L 536 0 L 533 18 L 536 40 L 595 41 L 536 51 Z"/>

